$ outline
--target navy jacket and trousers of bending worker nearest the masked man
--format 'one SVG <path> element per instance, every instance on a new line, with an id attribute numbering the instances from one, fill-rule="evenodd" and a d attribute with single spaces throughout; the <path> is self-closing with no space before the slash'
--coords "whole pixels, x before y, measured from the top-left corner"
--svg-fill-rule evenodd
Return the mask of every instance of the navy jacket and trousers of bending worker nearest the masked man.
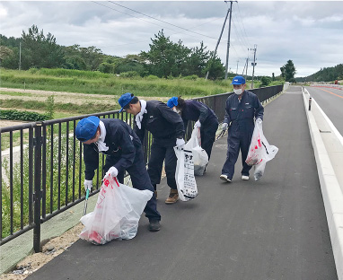
<path id="1" fill-rule="evenodd" d="M 185 130 L 189 120 L 200 121 L 201 147 L 206 151 L 208 160 L 211 156 L 212 146 L 215 142 L 215 132 L 218 129 L 218 118 L 215 112 L 199 101 L 185 101 L 181 111 Z"/>

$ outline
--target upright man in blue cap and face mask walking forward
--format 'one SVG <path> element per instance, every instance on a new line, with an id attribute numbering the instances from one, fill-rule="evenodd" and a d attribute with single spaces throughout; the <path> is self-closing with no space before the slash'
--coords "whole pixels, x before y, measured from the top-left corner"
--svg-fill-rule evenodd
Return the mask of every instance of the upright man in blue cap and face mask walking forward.
<path id="1" fill-rule="evenodd" d="M 263 106 L 259 98 L 252 92 L 245 90 L 245 79 L 242 76 L 233 77 L 233 92 L 226 100 L 223 130 L 227 132 L 227 154 L 220 179 L 231 182 L 234 164 L 238 154 L 242 153 L 242 179 L 249 179 L 249 166 L 245 160 L 251 144 L 251 136 L 255 127 L 254 119 L 263 120 Z"/>

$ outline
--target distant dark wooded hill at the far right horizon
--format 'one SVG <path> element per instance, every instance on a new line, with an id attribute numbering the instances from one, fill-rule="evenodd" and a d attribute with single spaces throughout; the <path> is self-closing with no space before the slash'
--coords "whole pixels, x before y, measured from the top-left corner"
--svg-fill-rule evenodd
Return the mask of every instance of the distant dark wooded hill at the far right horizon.
<path id="1" fill-rule="evenodd" d="M 343 80 L 343 64 L 333 67 L 321 68 L 320 71 L 311 74 L 307 77 L 295 78 L 298 83 L 303 82 L 332 82 L 335 80 Z"/>

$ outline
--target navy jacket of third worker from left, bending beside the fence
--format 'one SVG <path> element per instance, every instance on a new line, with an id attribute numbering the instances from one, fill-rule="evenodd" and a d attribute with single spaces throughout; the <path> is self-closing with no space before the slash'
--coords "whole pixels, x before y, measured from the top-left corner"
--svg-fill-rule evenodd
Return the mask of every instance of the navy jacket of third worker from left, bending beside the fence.
<path id="1" fill-rule="evenodd" d="M 201 125 L 205 124 L 205 126 L 216 124 L 217 120 L 215 112 L 208 108 L 206 104 L 192 100 L 185 101 L 181 111 L 181 118 L 183 119 L 185 129 L 189 120 L 199 120 Z"/>

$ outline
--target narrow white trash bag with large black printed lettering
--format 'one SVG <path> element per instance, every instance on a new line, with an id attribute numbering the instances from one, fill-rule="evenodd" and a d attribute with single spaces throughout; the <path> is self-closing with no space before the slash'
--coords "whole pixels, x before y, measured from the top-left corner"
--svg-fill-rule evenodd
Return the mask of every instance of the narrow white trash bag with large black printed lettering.
<path id="1" fill-rule="evenodd" d="M 198 196 L 197 182 L 194 178 L 194 162 L 191 151 L 174 147 L 178 162 L 175 179 L 181 201 L 189 201 Z"/>

